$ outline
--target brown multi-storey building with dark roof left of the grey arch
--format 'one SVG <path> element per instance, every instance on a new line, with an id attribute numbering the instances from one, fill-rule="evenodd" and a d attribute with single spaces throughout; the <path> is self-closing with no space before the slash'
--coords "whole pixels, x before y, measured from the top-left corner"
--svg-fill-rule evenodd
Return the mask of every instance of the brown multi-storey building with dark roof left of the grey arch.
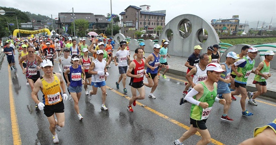
<path id="1" fill-rule="evenodd" d="M 166 10 L 151 11 L 151 6 L 128 6 L 121 16 L 121 32 L 124 36 L 134 37 L 137 30 L 143 29 L 147 34 L 156 34 L 157 26 L 165 27 Z"/>

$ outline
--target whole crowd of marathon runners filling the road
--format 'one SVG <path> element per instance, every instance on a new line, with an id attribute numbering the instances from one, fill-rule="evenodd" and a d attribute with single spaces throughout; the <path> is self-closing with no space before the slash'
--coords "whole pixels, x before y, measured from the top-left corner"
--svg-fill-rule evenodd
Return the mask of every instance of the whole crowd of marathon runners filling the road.
<path id="1" fill-rule="evenodd" d="M 91 41 L 91 45 L 87 45 L 86 41 Z M 162 77 L 166 79 L 166 73 L 169 70 L 167 58 L 171 56 L 168 53 L 168 46 L 169 42 L 162 40 L 162 45 L 155 44 L 153 53 L 145 56 L 145 43 L 143 42 L 140 43 L 139 48 L 133 48 L 134 54 L 130 55 L 128 42 L 122 40 L 119 42 L 119 47 L 114 48 L 115 43 L 112 38 L 109 38 L 107 42 L 106 39 L 84 38 L 80 39 L 79 44 L 71 38 L 68 40 L 17 38 L 6 42 L 4 53 L 7 55 L 10 69 L 15 71 L 17 70 L 15 56 L 18 55 L 22 73 L 26 76 L 27 85 L 30 85 L 32 89 L 31 96 L 36 103 L 36 110 L 44 110 L 50 123 L 53 142 L 58 143 L 59 139 L 55 130 L 60 131 L 65 125 L 64 100 L 69 98 L 74 102 L 76 117 L 79 120 L 85 117 L 81 115 L 78 105 L 83 87 L 89 100 L 100 88 L 102 92 L 100 108 L 104 111 L 108 110 L 105 105 L 106 81 L 110 73 L 108 68 L 111 62 L 118 66 L 120 74 L 118 81 L 113 83 L 114 87 L 120 89 L 121 83 L 123 92 L 127 93 L 126 77 L 131 78 L 129 82 L 131 98 L 125 106 L 129 112 L 133 112 L 132 105 L 136 105 L 136 100 L 145 99 L 145 86 L 151 88 L 149 98 L 158 98 L 154 95 L 154 91 L 158 86 L 160 71 L 164 68 Z M 180 105 L 185 102 L 192 103 L 191 126 L 179 139 L 173 141 L 174 144 L 183 144 L 185 139 L 197 131 L 202 137 L 198 144 L 208 144 L 211 141 L 205 123 L 214 102 L 224 105 L 221 119 L 233 121 L 227 114 L 232 100 L 236 100 L 234 95 L 241 94 L 241 115 L 252 116 L 253 113 L 245 108 L 246 98 L 249 98 L 249 104 L 257 105 L 255 98 L 266 92 L 265 80 L 271 76 L 269 62 L 273 59 L 273 51 L 265 52 L 265 59 L 256 69 L 253 69 L 254 58 L 258 55 L 256 48 L 245 45 L 240 48 L 240 54 L 229 52 L 225 62 L 220 62 L 219 48 L 219 45 L 214 44 L 206 48 L 207 53 L 201 54 L 203 48 L 199 45 L 194 46 L 194 53 L 185 63 L 188 67 L 186 75 L 188 82 L 185 83 L 184 96 L 181 97 Z M 88 55 L 89 53 L 92 56 Z M 133 57 L 132 61 L 130 61 L 131 57 Z M 54 62 L 58 63 L 59 73 L 53 72 Z M 252 83 L 256 85 L 256 92 L 246 91 L 245 88 L 251 73 L 254 74 Z M 92 88 L 89 89 L 89 86 Z M 39 100 L 39 90 L 43 93 L 42 100 Z"/>

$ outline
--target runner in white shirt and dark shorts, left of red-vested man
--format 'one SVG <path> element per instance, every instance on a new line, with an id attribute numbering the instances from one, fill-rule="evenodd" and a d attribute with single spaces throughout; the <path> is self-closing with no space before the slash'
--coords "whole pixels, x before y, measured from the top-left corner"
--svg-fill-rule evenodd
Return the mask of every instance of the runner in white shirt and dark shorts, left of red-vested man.
<path id="1" fill-rule="evenodd" d="M 125 88 L 125 79 L 126 79 L 126 70 L 127 70 L 127 60 L 128 63 L 130 62 L 130 58 L 129 58 L 129 53 L 127 50 L 125 50 L 126 43 L 125 41 L 121 41 L 120 42 L 120 47 L 121 49 L 119 51 L 116 52 L 115 56 L 114 56 L 114 63 L 115 66 L 118 65 L 118 63 L 116 62 L 116 58 L 118 58 L 119 61 L 119 80 L 116 82 L 116 87 L 117 89 L 119 89 L 119 83 L 120 81 L 122 81 L 122 85 L 123 85 L 123 92 L 127 93 L 127 90 Z"/>

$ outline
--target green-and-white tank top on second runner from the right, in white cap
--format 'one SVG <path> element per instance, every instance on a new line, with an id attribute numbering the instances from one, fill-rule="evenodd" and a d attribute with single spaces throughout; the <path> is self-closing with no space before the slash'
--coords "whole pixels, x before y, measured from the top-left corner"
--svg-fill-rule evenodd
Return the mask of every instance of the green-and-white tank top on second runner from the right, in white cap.
<path id="1" fill-rule="evenodd" d="M 243 82 L 243 83 L 246 83 L 247 82 L 247 79 L 254 67 L 254 64 L 255 64 L 255 60 L 253 60 L 253 63 L 250 64 L 248 59 L 246 57 L 244 57 L 243 59 L 246 60 L 246 65 L 244 67 L 238 67 L 237 69 L 237 72 L 238 73 L 241 73 L 242 76 L 241 77 L 238 77 L 236 76 L 235 80 L 238 81 L 238 82 Z"/>

